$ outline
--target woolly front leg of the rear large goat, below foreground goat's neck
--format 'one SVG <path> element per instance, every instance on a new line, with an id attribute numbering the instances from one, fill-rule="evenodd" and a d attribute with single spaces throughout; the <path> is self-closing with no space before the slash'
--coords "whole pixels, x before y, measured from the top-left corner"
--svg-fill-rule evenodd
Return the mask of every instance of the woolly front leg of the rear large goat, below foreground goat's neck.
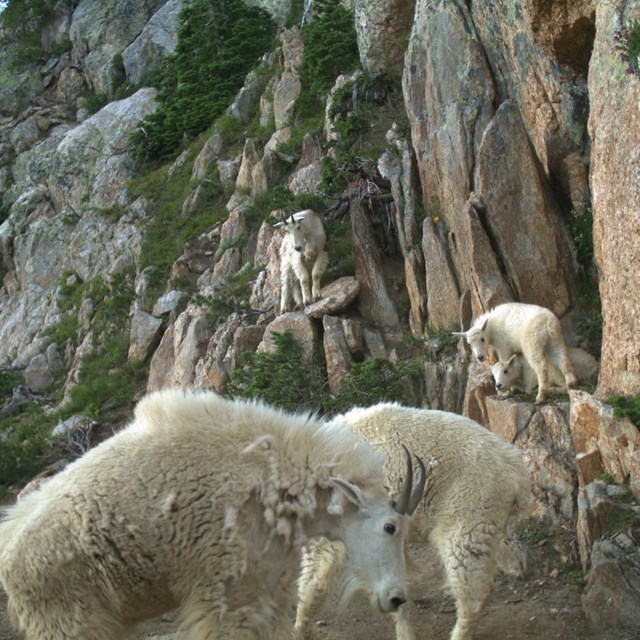
<path id="1" fill-rule="evenodd" d="M 345 564 L 345 549 L 339 542 L 310 540 L 302 552 L 298 578 L 298 610 L 295 638 L 311 638 L 311 620 L 329 592 L 335 593 Z"/>

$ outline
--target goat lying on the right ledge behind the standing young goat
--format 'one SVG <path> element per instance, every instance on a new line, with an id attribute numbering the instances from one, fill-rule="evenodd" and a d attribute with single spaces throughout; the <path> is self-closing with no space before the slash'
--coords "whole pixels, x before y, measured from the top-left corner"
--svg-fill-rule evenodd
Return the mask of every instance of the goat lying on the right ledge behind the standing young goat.
<path id="1" fill-rule="evenodd" d="M 579 347 L 568 347 L 567 354 L 578 383 L 596 381 L 598 361 L 590 353 Z M 558 367 L 551 361 L 547 362 L 547 367 L 549 389 L 566 390 L 564 376 Z M 515 389 L 521 389 L 525 393 L 533 393 L 533 390 L 538 386 L 535 371 L 521 353 L 514 353 L 506 362 L 496 362 L 491 366 L 491 373 L 500 396 L 508 396 Z"/>

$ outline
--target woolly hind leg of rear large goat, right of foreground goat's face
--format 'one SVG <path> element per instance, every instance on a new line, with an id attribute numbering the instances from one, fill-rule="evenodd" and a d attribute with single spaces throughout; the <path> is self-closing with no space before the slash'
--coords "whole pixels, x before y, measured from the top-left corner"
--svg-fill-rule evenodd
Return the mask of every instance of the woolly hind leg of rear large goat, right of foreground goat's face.
<path id="1" fill-rule="evenodd" d="M 484 524 L 468 534 L 453 534 L 443 543 L 441 556 L 458 614 L 450 640 L 473 638 L 493 589 L 497 539 L 497 528 Z"/>

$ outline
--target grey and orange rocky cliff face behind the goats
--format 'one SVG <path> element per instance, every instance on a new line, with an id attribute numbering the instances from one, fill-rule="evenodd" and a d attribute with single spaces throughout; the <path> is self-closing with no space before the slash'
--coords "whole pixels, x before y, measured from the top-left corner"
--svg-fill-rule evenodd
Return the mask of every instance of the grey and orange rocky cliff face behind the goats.
<path id="1" fill-rule="evenodd" d="M 253 4 L 281 24 L 288 14 L 288 3 Z M 300 29 L 282 27 L 278 51 L 228 109 L 270 135 L 238 146 L 213 127 L 166 171 L 167 192 L 186 176 L 174 217 L 206 210 L 212 172 L 225 212 L 182 248 L 160 288 L 141 258 L 156 209 L 129 186 L 129 136 L 157 108 L 144 78 L 175 49 L 181 0 L 57 3 L 41 40 L 48 51 L 68 43 L 66 51 L 21 73 L 0 61 L 0 362 L 32 391 L 61 388 L 69 398 L 94 341 L 110 336 L 115 320 L 105 322 L 100 304 L 122 282 L 131 289 L 127 358 L 148 365 L 148 390 L 224 392 L 241 354 L 273 351 L 272 332 L 287 328 L 305 361 L 321 356 L 332 393 L 352 363 L 411 352 L 421 363 L 412 401 L 465 413 L 523 451 L 537 517 L 575 527 L 587 615 L 596 626 L 634 628 L 640 434 L 606 400 L 640 395 L 640 80 L 626 73 L 615 39 L 640 19 L 640 2 L 349 4 L 362 68 L 386 80 L 336 78 L 322 133 L 305 136 L 289 161 L 305 52 Z M 121 98 L 123 83 L 136 90 Z M 106 104 L 90 115 L 96 94 Z M 340 123 L 365 107 L 375 118 L 361 140 L 379 145 L 375 162 L 326 216 L 330 255 L 349 235 L 353 267 L 328 272 L 321 301 L 277 315 L 282 235 L 274 221 L 256 227 L 252 207 L 283 184 L 294 195 L 322 190 L 323 159 L 335 153 L 327 143 L 339 143 Z M 590 211 L 594 259 L 585 260 L 574 223 Z M 212 320 L 202 300 L 222 299 L 249 272 L 247 303 Z M 69 303 L 70 291 L 95 290 L 97 278 L 103 298 L 84 289 Z M 585 278 L 597 278 L 599 300 L 585 302 Z M 571 344 L 588 338 L 584 321 L 601 304 L 593 394 L 541 407 L 498 400 L 464 345 L 447 346 L 445 331 L 512 300 L 553 309 Z M 71 336 L 61 337 L 63 322 Z"/>

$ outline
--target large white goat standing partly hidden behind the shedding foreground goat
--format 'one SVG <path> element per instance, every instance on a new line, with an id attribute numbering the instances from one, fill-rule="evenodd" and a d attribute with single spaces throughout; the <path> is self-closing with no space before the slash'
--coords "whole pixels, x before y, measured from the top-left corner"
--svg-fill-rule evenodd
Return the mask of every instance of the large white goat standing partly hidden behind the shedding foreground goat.
<path id="1" fill-rule="evenodd" d="M 518 451 L 473 420 L 445 411 L 380 404 L 353 409 L 336 421 L 351 425 L 355 434 L 387 454 L 384 475 L 389 487 L 403 476 L 403 445 L 430 460 L 409 540 L 435 545 L 456 599 L 451 640 L 470 640 L 491 593 L 500 554 L 507 551 L 507 525 L 531 501 L 529 474 Z M 343 562 L 339 544 L 317 540 L 306 547 L 298 585 L 298 638 L 309 637 L 311 619 Z M 396 636 L 413 640 L 405 609 L 395 614 Z"/>

